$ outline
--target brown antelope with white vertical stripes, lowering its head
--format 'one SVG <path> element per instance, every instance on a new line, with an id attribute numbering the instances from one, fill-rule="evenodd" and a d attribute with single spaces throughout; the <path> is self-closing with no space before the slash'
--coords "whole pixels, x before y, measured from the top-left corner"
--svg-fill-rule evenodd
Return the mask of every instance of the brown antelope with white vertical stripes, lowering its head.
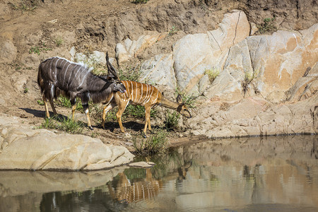
<path id="1" fill-rule="evenodd" d="M 146 137 L 147 126 L 151 131 L 150 112 L 151 107 L 155 105 L 162 105 L 173 110 L 177 110 L 184 117 L 191 118 L 191 114 L 187 107 L 182 103 L 180 95 L 177 96 L 177 102 L 172 102 L 165 98 L 157 88 L 135 81 L 122 81 L 126 87 L 126 93 L 115 93 L 114 98 L 104 107 L 102 113 L 102 128 L 105 128 L 105 116 L 106 113 L 113 107 L 118 105 L 118 112 L 116 114 L 117 121 L 120 126 L 120 130 L 124 133 L 124 127 L 122 126 L 122 113 L 126 109 L 126 106 L 131 102 L 133 105 L 142 105 L 145 107 L 146 122 L 143 129 L 144 137 Z"/>

